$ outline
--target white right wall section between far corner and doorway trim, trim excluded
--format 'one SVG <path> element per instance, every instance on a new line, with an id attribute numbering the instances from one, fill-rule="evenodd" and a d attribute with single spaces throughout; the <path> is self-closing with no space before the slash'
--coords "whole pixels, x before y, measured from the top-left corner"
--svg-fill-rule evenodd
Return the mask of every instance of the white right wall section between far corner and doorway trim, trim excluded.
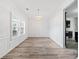
<path id="1" fill-rule="evenodd" d="M 58 12 L 50 21 L 50 38 L 63 47 L 63 11 Z"/>

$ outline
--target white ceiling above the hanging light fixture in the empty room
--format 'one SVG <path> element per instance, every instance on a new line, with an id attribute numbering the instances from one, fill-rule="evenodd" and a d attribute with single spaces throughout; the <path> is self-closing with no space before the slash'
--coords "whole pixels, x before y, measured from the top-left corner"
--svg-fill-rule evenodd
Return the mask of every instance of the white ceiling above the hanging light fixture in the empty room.
<path id="1" fill-rule="evenodd" d="M 27 13 L 26 8 L 29 8 L 29 13 L 37 14 L 37 9 L 40 9 L 41 16 L 48 16 L 63 3 L 64 0 L 12 0 L 17 7 Z"/>

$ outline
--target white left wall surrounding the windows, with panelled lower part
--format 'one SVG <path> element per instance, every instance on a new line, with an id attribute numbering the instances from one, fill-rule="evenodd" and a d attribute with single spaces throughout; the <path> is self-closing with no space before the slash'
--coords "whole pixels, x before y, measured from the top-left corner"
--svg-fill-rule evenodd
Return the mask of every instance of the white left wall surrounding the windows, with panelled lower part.
<path id="1" fill-rule="evenodd" d="M 14 13 L 18 19 L 26 22 L 26 33 L 15 39 L 10 37 L 10 12 Z M 27 38 L 27 25 L 25 15 L 10 0 L 0 0 L 0 58 Z"/>

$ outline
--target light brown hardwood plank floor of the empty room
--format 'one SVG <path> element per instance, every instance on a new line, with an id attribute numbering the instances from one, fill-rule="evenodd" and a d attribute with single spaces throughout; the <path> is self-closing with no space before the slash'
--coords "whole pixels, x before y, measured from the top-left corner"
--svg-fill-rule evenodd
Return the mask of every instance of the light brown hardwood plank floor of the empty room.
<path id="1" fill-rule="evenodd" d="M 76 59 L 76 50 L 59 48 L 48 38 L 29 38 L 1 59 Z"/>

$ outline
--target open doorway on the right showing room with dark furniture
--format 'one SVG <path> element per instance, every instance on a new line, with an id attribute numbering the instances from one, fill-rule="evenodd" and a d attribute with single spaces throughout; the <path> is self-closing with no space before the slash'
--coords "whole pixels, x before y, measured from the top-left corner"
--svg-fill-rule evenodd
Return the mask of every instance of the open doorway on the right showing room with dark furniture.
<path id="1" fill-rule="evenodd" d="M 75 0 L 65 9 L 65 46 L 78 50 L 78 2 Z"/>

